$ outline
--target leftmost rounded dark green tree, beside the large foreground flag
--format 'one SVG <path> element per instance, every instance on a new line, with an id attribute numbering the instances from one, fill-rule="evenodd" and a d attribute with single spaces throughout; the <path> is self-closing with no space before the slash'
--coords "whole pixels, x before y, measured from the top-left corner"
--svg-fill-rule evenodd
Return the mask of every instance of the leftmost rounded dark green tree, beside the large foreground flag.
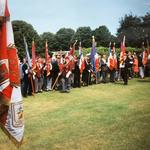
<path id="1" fill-rule="evenodd" d="M 16 20 L 12 22 L 12 25 L 14 31 L 15 44 L 18 49 L 19 57 L 26 56 L 23 36 L 25 36 L 26 38 L 30 54 L 33 39 L 36 43 L 36 51 L 40 52 L 40 37 L 31 24 L 28 24 L 25 21 Z"/>

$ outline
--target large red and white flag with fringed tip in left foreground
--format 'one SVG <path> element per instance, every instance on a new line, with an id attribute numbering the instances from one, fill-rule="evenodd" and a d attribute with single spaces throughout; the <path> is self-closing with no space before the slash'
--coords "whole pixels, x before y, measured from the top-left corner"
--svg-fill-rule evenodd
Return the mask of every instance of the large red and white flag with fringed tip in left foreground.
<path id="1" fill-rule="evenodd" d="M 24 119 L 19 62 L 14 45 L 7 0 L 0 0 L 0 127 L 18 147 L 23 141 Z"/>

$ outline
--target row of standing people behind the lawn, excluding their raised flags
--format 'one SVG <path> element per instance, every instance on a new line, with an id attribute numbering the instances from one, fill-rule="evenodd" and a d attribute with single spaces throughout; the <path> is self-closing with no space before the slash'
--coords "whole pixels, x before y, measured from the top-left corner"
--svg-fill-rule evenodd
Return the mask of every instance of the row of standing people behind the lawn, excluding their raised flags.
<path id="1" fill-rule="evenodd" d="M 133 78 L 134 73 L 144 77 L 144 65 L 141 65 L 141 55 L 125 55 L 123 61 L 112 53 L 112 60 L 107 59 L 104 54 L 99 56 L 98 72 L 93 72 L 90 57 L 84 58 L 84 69 L 80 69 L 80 58 L 70 58 L 65 55 L 57 55 L 49 58 L 45 62 L 42 58 L 37 58 L 36 64 L 29 68 L 26 59 L 21 66 L 22 74 L 22 94 L 24 97 L 42 91 L 53 89 L 61 92 L 69 92 L 71 87 L 88 86 L 93 83 L 107 83 L 108 76 L 110 82 L 115 82 L 121 78 L 124 84 L 128 84 L 128 78 Z M 115 60 L 114 60 L 115 59 Z M 112 61 L 110 66 L 110 62 Z M 122 62 L 121 62 L 122 61 Z M 112 65 L 113 64 L 113 65 Z"/>

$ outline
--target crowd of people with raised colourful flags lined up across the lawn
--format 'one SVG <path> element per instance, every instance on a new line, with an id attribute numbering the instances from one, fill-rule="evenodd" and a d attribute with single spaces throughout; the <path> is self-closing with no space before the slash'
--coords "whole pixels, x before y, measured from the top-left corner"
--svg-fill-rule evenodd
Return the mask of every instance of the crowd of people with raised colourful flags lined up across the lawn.
<path id="1" fill-rule="evenodd" d="M 25 45 L 27 45 L 25 40 Z M 125 36 L 121 43 L 121 52 L 118 56 L 115 43 L 109 44 L 108 56 L 99 55 L 96 42 L 92 37 L 91 53 L 83 56 L 81 42 L 79 54 L 75 55 L 77 41 L 68 52 L 59 51 L 48 54 L 48 42 L 45 44 L 45 58 L 36 56 L 35 43 L 32 43 L 32 59 L 24 58 L 20 64 L 22 95 L 27 97 L 34 93 L 58 90 L 69 93 L 71 88 L 88 86 L 99 83 L 115 83 L 122 80 L 124 85 L 133 77 L 144 78 L 150 75 L 150 51 L 144 49 L 139 54 L 126 52 Z M 26 46 L 27 47 L 27 46 Z"/>

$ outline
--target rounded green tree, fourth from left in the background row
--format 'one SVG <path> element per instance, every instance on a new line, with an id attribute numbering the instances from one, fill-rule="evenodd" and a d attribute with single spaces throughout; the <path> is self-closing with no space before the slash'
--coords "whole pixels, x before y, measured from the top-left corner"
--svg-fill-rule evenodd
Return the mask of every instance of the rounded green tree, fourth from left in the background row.
<path id="1" fill-rule="evenodd" d="M 92 45 L 92 30 L 90 27 L 79 27 L 73 37 L 74 40 L 82 42 L 82 47 L 88 48 Z"/>

